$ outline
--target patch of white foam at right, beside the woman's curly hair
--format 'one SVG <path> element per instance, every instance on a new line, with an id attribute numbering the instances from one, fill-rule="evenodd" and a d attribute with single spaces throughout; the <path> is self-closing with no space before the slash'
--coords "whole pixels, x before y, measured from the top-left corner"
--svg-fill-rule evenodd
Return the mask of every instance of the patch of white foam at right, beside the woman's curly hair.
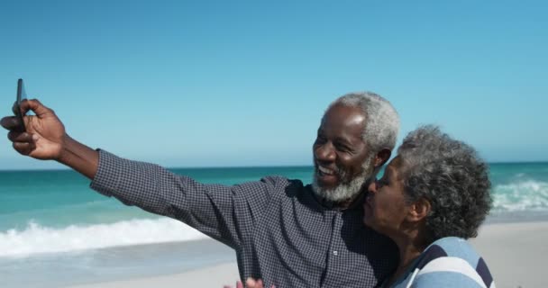
<path id="1" fill-rule="evenodd" d="M 493 200 L 495 211 L 548 211 L 548 183 L 523 180 L 498 184 Z"/>

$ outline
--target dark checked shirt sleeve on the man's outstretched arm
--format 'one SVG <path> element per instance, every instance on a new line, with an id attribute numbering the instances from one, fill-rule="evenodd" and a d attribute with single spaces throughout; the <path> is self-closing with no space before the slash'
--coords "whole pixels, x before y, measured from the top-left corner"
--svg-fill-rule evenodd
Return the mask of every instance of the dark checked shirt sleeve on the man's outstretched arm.
<path id="1" fill-rule="evenodd" d="M 161 166 L 99 150 L 99 166 L 90 187 L 126 205 L 181 220 L 237 248 L 242 238 L 251 236 L 264 205 L 280 189 L 278 180 L 270 177 L 233 186 L 200 184 Z"/>

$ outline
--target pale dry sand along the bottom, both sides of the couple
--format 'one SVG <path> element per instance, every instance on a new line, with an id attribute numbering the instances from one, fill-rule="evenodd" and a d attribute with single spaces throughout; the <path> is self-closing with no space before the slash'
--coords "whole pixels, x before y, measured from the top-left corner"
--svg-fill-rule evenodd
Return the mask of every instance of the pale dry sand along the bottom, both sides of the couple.
<path id="1" fill-rule="evenodd" d="M 546 287 L 543 276 L 548 256 L 548 221 L 497 223 L 484 225 L 479 237 L 471 240 L 487 261 L 498 288 Z M 223 287 L 238 279 L 235 261 L 175 275 L 107 283 L 72 286 L 72 288 L 140 288 L 140 287 Z"/>

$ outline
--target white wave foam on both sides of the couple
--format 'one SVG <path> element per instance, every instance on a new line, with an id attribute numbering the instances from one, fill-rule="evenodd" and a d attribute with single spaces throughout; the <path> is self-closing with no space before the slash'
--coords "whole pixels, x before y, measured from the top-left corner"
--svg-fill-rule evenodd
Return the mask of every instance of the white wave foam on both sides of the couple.
<path id="1" fill-rule="evenodd" d="M 548 183 L 519 179 L 493 187 L 494 211 L 548 211 Z M 123 220 L 111 224 L 51 228 L 29 222 L 24 229 L 0 231 L 0 257 L 187 241 L 206 236 L 178 220 Z"/>

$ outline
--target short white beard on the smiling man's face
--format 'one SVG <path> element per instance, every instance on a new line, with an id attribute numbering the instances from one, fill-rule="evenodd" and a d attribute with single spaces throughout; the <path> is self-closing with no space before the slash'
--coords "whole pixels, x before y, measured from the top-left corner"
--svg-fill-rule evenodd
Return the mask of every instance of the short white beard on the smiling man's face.
<path id="1" fill-rule="evenodd" d="M 356 175 L 349 183 L 341 183 L 334 188 L 320 187 L 317 179 L 317 171 L 315 171 L 312 190 L 317 196 L 329 202 L 344 202 L 352 199 L 354 196 L 361 193 L 363 184 L 368 181 L 373 174 L 374 167 L 370 165 L 373 156 L 374 154 L 371 154 L 370 157 L 365 159 L 363 166 L 361 166 L 363 171 L 360 175 Z M 344 172 L 342 172 L 339 177 L 344 179 Z"/>

